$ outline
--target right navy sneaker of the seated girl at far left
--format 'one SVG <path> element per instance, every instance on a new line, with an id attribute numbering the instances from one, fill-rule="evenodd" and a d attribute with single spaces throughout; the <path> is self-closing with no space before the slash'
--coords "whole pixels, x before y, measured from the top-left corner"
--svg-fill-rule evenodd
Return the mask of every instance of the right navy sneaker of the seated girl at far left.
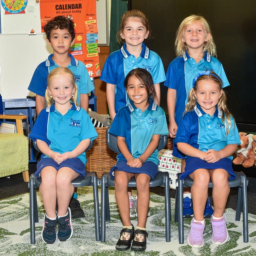
<path id="1" fill-rule="evenodd" d="M 68 207 L 67 216 L 58 218 L 58 239 L 60 241 L 67 241 L 72 237 L 73 228 L 71 225 L 71 211 Z"/>

